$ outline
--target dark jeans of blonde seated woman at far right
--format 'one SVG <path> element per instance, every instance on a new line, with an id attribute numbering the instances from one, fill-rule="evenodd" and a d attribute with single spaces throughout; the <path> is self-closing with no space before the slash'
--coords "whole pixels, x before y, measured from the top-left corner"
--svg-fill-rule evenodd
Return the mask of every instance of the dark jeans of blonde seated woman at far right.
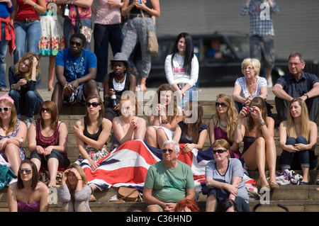
<path id="1" fill-rule="evenodd" d="M 308 145 L 308 142 L 305 137 L 289 137 L 286 141 L 286 145 L 296 145 L 296 144 L 304 144 Z M 298 158 L 301 163 L 301 167 L 310 167 L 309 160 L 309 150 L 302 150 L 299 152 L 287 152 L 285 150 L 281 153 L 281 168 L 282 169 L 291 169 L 291 162 L 293 161 L 293 155 L 298 154 Z"/>

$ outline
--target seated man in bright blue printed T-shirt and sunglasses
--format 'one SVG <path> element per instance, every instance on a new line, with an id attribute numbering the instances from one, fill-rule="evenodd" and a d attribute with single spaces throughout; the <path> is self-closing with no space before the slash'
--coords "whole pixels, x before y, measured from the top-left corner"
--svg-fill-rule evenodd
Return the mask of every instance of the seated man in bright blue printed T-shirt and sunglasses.
<path id="1" fill-rule="evenodd" d="M 60 110 L 63 103 L 85 103 L 90 94 L 98 94 L 96 77 L 96 55 L 85 50 L 86 38 L 82 33 L 74 33 L 69 48 L 60 51 L 55 57 L 57 83 L 52 94 Z"/>

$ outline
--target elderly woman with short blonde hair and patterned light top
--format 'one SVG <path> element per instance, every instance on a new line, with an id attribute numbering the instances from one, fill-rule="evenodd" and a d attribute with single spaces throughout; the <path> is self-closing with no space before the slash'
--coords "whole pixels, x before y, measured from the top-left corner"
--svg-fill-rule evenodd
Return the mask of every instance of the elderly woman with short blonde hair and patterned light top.
<path id="1" fill-rule="evenodd" d="M 233 98 L 235 106 L 238 112 L 244 106 L 249 106 L 252 98 L 259 96 L 264 101 L 267 100 L 268 89 L 267 80 L 264 77 L 259 77 L 260 73 L 260 62 L 257 59 L 246 58 L 242 61 L 242 74 L 244 77 L 240 77 L 235 81 L 233 90 Z M 268 104 L 266 103 L 268 115 L 269 113 Z"/>

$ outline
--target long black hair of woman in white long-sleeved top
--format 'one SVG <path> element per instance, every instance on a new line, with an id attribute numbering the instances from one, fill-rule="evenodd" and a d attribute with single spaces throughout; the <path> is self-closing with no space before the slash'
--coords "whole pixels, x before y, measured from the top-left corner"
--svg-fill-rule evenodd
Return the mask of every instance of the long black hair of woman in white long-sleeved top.
<path id="1" fill-rule="evenodd" d="M 177 46 L 181 38 L 185 38 L 185 43 L 186 43 L 186 52 L 184 57 L 183 69 L 184 69 L 184 72 L 190 76 L 191 75 L 191 60 L 193 60 L 193 57 L 194 57 L 194 43 L 193 43 L 193 38 L 191 38 L 191 35 L 189 35 L 189 33 L 180 33 L 177 36 L 175 40 L 174 52 L 172 54 L 171 64 L 173 67 L 173 59 L 174 59 L 174 56 L 179 52 L 179 49 Z"/>

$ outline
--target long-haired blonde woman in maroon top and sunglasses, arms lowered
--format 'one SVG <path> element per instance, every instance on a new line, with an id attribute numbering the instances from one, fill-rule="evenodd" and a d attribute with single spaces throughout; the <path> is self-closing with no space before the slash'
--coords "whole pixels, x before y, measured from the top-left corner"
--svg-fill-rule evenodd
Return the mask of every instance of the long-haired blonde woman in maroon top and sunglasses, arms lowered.
<path id="1" fill-rule="evenodd" d="M 238 115 L 234 100 L 227 94 L 218 94 L 215 106 L 216 113 L 208 123 L 211 145 L 215 140 L 225 139 L 230 145 L 230 157 L 239 159 L 239 145 L 234 142 Z"/>

